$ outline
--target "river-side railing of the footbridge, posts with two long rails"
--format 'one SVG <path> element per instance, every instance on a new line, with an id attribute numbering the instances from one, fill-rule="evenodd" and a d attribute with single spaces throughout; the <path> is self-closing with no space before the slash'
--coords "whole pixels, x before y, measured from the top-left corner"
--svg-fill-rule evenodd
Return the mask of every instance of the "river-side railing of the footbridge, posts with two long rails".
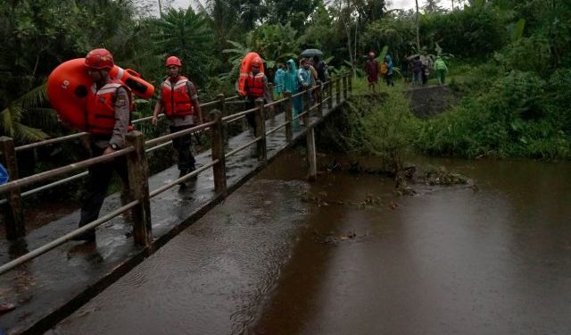
<path id="1" fill-rule="evenodd" d="M 340 80 L 337 79 L 336 82 L 337 82 L 336 93 L 338 95 L 339 91 L 340 91 L 340 88 L 339 88 Z M 332 85 L 332 82 L 329 81 L 329 82 L 327 82 L 327 84 Z M 319 85 L 319 88 L 322 88 L 322 87 L 323 87 L 322 85 Z M 314 88 L 314 89 L 316 89 L 316 88 Z M 293 117 L 293 112 L 292 112 L 292 98 L 296 95 L 291 95 L 290 93 L 286 92 L 287 94 L 286 94 L 285 98 L 277 100 L 277 102 L 264 105 L 262 101 L 258 101 L 257 106 L 255 108 L 252 108 L 251 110 L 244 111 L 241 113 L 236 113 L 235 115 L 229 115 L 226 117 L 221 117 L 221 113 L 219 111 L 215 110 L 215 111 L 213 111 L 213 114 L 211 114 L 211 115 L 213 115 L 211 117 L 213 119 L 213 121 L 203 123 L 201 125 L 192 127 L 190 129 L 187 129 L 187 130 L 181 130 L 181 131 L 169 134 L 169 135 L 165 135 L 161 138 L 153 138 L 153 139 L 150 139 L 146 142 L 144 140 L 144 135 L 142 133 L 140 133 L 138 131 L 133 131 L 133 132 L 128 134 L 129 146 L 125 147 L 123 149 L 117 150 L 110 155 L 97 156 L 97 157 L 89 158 L 87 160 L 80 161 L 77 163 L 71 163 L 67 166 L 56 168 L 56 169 L 53 169 L 53 170 L 50 170 L 47 172 L 40 172 L 40 173 L 37 173 L 35 175 L 26 177 L 26 178 L 12 180 L 12 181 L 0 186 L 0 194 L 16 191 L 18 193 L 18 195 L 21 196 L 21 194 L 19 193 L 19 189 L 23 186 L 30 185 L 30 184 L 38 182 L 38 181 L 51 179 L 51 178 L 60 176 L 62 174 L 67 174 L 67 173 L 74 172 L 74 171 L 77 171 L 80 169 L 86 169 L 87 167 L 92 166 L 94 164 L 105 163 L 105 162 L 111 161 L 112 159 L 115 159 L 115 158 L 123 156 L 123 155 L 128 156 L 129 180 L 136 180 L 135 182 L 133 182 L 133 184 L 134 184 L 133 186 L 129 185 L 129 188 L 131 188 L 131 195 L 133 196 L 133 198 L 131 199 L 132 201 L 130 201 L 127 205 L 121 206 L 120 208 L 114 210 L 112 213 L 104 214 L 102 217 L 98 218 L 94 222 L 89 222 L 89 223 L 87 223 L 87 225 L 82 226 L 81 228 L 79 228 L 77 230 L 73 230 L 70 233 L 62 236 L 61 238 L 54 239 L 53 241 L 47 243 L 46 245 L 44 245 L 42 247 L 38 247 L 37 249 L 29 252 L 28 254 L 22 255 L 16 259 L 12 260 L 11 262 L 0 266 L 0 274 L 3 274 L 5 272 L 9 272 L 12 269 L 14 269 L 15 267 L 17 267 L 21 264 L 24 264 L 24 263 L 28 262 L 29 260 L 36 258 L 39 255 L 45 254 L 46 252 L 54 249 L 54 247 L 61 246 L 63 243 L 66 243 L 67 241 L 69 241 L 70 239 L 73 239 L 74 237 L 78 237 L 79 235 L 87 232 L 88 230 L 95 229 L 96 227 L 102 225 L 104 222 L 108 222 L 108 221 L 112 220 L 112 218 L 118 216 L 119 214 L 124 213 L 125 211 L 127 211 L 131 208 L 136 208 L 136 212 L 137 212 L 136 213 L 137 226 L 134 227 L 134 239 L 136 240 L 137 244 L 148 247 L 151 243 L 151 237 L 153 236 L 152 235 L 150 203 L 149 203 L 150 198 L 156 197 L 157 195 L 161 194 L 165 190 L 172 188 L 175 185 L 177 185 L 178 182 L 193 178 L 194 176 L 198 175 L 200 172 L 203 172 L 209 168 L 212 168 L 214 170 L 215 191 L 217 192 L 217 194 L 221 194 L 223 196 L 226 196 L 226 192 L 227 192 L 227 186 L 226 186 L 227 176 L 226 176 L 226 172 L 225 172 L 226 159 L 229 156 L 236 155 L 237 152 L 244 150 L 245 147 L 249 147 L 249 146 L 252 146 L 253 144 L 257 143 L 258 158 L 261 161 L 261 163 L 265 163 L 267 160 L 267 156 L 266 156 L 267 155 L 267 148 L 266 148 L 267 139 L 266 139 L 266 137 L 269 136 L 270 134 L 276 132 L 277 130 L 285 127 L 286 141 L 289 142 L 289 141 L 293 140 L 293 136 L 291 134 L 292 123 L 295 119 L 298 119 L 298 118 L 302 118 L 302 120 L 304 121 L 305 127 L 308 128 L 307 144 L 308 144 L 308 146 L 310 146 L 310 147 L 308 147 L 308 153 L 309 153 L 308 160 L 310 160 L 309 161 L 309 163 L 310 163 L 310 178 L 315 177 L 315 166 L 316 166 L 315 165 L 315 162 L 316 162 L 316 160 L 315 160 L 315 152 L 316 152 L 315 151 L 315 139 L 314 139 L 313 127 L 310 125 L 309 114 L 310 114 L 310 111 L 312 111 L 312 110 L 315 110 L 315 109 L 319 110 L 325 102 L 331 102 L 333 96 L 331 95 L 331 93 L 329 93 L 327 98 L 319 99 L 319 101 L 317 101 L 315 105 L 310 106 L 309 100 L 310 100 L 311 90 L 313 90 L 313 89 L 307 89 L 305 91 L 300 92 L 300 94 L 298 94 L 298 95 L 303 95 L 304 100 L 306 102 L 306 105 L 305 105 L 305 111 L 303 113 L 300 113 L 296 117 Z M 347 90 L 347 77 L 345 76 L 345 80 L 343 80 L 343 91 L 346 91 L 346 90 Z M 322 90 L 322 92 L 323 92 L 323 90 Z M 331 88 L 329 89 L 329 92 L 332 92 Z M 222 96 L 221 98 L 219 98 L 219 100 L 216 101 L 216 103 L 221 103 L 221 102 L 226 103 L 226 101 L 233 99 L 233 98 L 235 98 L 235 96 L 233 96 L 231 98 L 223 98 L 223 96 Z M 339 103 L 339 102 L 340 102 L 340 100 L 337 99 L 337 103 Z M 285 122 L 277 125 L 277 127 L 274 127 L 271 130 L 266 132 L 265 131 L 265 115 L 263 113 L 264 108 L 266 108 L 270 105 L 279 105 L 279 104 L 285 104 L 286 105 Z M 223 146 L 222 146 L 223 134 L 221 131 L 223 124 L 231 122 L 231 121 L 235 121 L 236 115 L 238 115 L 238 117 L 244 117 L 244 115 L 247 113 L 256 113 L 256 117 L 257 117 L 257 130 L 256 130 L 256 132 L 257 132 L 258 136 L 256 138 L 254 138 L 252 141 L 246 143 L 244 146 L 238 147 L 238 148 L 228 152 L 228 154 L 224 154 Z M 318 117 L 322 118 L 323 115 L 319 115 L 319 113 L 318 113 Z M 186 174 L 185 176 L 178 178 L 177 180 L 173 180 L 169 184 L 161 186 L 161 188 L 156 188 L 153 191 L 150 191 L 148 188 L 148 174 L 147 174 L 148 171 L 146 170 L 148 165 L 146 163 L 145 146 L 157 146 L 157 145 L 161 145 L 162 143 L 168 143 L 172 138 L 178 138 L 180 136 L 184 136 L 186 134 L 189 134 L 189 133 L 192 133 L 192 132 L 198 131 L 198 130 L 210 130 L 211 131 L 211 136 L 212 136 L 212 147 L 211 147 L 212 161 L 211 161 L 211 163 L 204 164 L 200 168 L 196 169 L 194 172 L 190 172 L 190 173 Z M 75 134 L 74 136 L 79 137 L 79 134 Z M 10 142 L 10 141 L 7 141 L 7 142 Z M 52 143 L 55 143 L 55 142 L 52 142 Z M 8 145 L 8 147 L 9 147 L 9 145 Z M 10 154 L 10 151 L 6 148 L 7 147 L 4 146 L 4 153 L 8 153 L 9 155 L 4 155 L 4 157 L 3 157 L 4 160 L 13 159 L 14 154 L 13 153 Z M 83 172 L 83 173 L 85 173 L 85 172 Z M 55 186 L 56 184 L 57 183 L 54 183 L 53 185 Z"/>

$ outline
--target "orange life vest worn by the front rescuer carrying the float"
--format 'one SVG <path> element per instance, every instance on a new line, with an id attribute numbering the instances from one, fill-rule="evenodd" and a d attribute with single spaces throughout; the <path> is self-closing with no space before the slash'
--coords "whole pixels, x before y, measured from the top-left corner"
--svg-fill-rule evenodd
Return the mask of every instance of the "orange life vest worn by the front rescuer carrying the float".
<path id="1" fill-rule="evenodd" d="M 87 131 L 95 135 L 112 135 L 115 128 L 115 94 L 117 89 L 125 88 L 131 111 L 130 90 L 120 80 L 109 80 L 103 88 L 97 89 L 95 83 L 87 94 Z"/>

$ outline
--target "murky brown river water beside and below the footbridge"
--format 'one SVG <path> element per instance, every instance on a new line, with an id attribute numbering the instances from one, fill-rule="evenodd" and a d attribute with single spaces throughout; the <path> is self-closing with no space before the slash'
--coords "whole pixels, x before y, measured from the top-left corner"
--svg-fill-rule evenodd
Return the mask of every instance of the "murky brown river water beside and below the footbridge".
<path id="1" fill-rule="evenodd" d="M 477 188 L 292 151 L 47 333 L 571 333 L 571 164 L 416 161 Z"/>

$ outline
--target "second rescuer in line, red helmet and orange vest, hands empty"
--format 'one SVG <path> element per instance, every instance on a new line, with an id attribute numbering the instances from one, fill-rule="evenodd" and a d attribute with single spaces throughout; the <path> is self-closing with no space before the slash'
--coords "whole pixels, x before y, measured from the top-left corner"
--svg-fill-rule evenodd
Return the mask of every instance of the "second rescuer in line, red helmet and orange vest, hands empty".
<path id="1" fill-rule="evenodd" d="M 169 77 L 161 84 L 161 96 L 154 106 L 153 125 L 161 111 L 170 121 L 170 133 L 192 128 L 196 122 L 203 123 L 203 113 L 198 101 L 198 93 L 193 82 L 180 75 L 182 62 L 176 56 L 170 56 L 165 63 Z M 192 134 L 172 139 L 172 145 L 178 153 L 178 178 L 195 169 L 192 153 Z M 179 184 L 185 187 L 185 183 Z"/>

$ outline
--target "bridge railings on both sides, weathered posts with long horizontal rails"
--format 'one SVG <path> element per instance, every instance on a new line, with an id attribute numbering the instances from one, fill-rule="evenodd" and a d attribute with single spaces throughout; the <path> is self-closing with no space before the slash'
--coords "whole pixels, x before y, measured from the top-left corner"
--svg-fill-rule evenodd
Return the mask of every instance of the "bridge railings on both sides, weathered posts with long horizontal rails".
<path id="1" fill-rule="evenodd" d="M 39 255 L 43 255 L 49 250 L 53 249 L 54 247 L 61 246 L 63 243 L 78 237 L 79 235 L 87 232 L 87 230 L 95 229 L 96 227 L 102 225 L 104 222 L 108 222 L 112 220 L 112 218 L 128 211 L 129 209 L 133 210 L 134 220 L 133 220 L 133 238 L 137 245 L 148 247 L 152 241 L 152 222 L 151 222 L 151 205 L 150 199 L 152 197 L 156 197 L 157 195 L 161 194 L 162 192 L 166 191 L 169 188 L 172 188 L 178 185 L 179 182 L 184 182 L 186 180 L 190 180 L 194 176 L 198 175 L 200 172 L 212 168 L 213 175 L 214 175 L 214 191 L 220 197 L 225 197 L 227 195 L 227 175 L 226 175 L 226 160 L 228 157 L 232 155 L 236 155 L 238 152 L 244 150 L 246 147 L 253 145 L 254 143 L 257 146 L 257 156 L 258 160 L 261 163 L 265 163 L 267 161 L 267 149 L 266 149 L 266 137 L 270 134 L 276 132 L 277 130 L 281 130 L 285 128 L 285 140 L 290 142 L 294 138 L 294 120 L 301 119 L 303 124 L 308 128 L 307 129 L 307 144 L 308 144 L 308 161 L 310 163 L 310 179 L 315 178 L 317 175 L 317 166 L 316 166 L 316 158 L 315 158 L 315 138 L 314 138 L 314 130 L 310 127 L 310 112 L 316 111 L 316 115 L 319 119 L 323 117 L 322 107 L 323 104 L 327 103 L 329 109 L 333 108 L 333 83 L 335 83 L 335 101 L 337 104 L 341 102 L 341 81 L 343 80 L 343 99 L 347 98 L 347 91 L 351 90 L 351 78 L 348 74 L 343 74 L 342 77 L 337 77 L 335 80 L 330 80 L 327 83 L 319 83 L 318 86 L 314 88 L 306 89 L 302 92 L 296 93 L 291 95 L 289 93 L 285 93 L 285 97 L 279 99 L 275 102 L 269 103 L 264 105 L 261 99 L 256 101 L 256 107 L 246 110 L 244 112 L 235 113 L 228 115 L 228 111 L 226 108 L 226 103 L 228 100 L 234 99 L 236 97 L 231 98 L 224 98 L 223 95 L 219 95 L 219 99 L 215 101 L 211 101 L 209 103 L 202 104 L 201 106 L 219 106 L 220 110 L 215 109 L 211 112 L 211 121 L 205 122 L 201 125 L 195 126 L 193 128 L 187 130 L 181 130 L 169 135 L 162 136 L 160 138 L 153 138 L 150 140 L 145 141 L 145 136 L 140 131 L 131 131 L 127 135 L 128 147 L 123 149 L 117 150 L 116 152 L 110 155 L 102 155 L 97 156 L 94 158 L 87 159 L 85 161 L 81 161 L 78 163 L 71 163 L 70 165 L 63 166 L 60 168 L 56 168 L 54 170 L 40 172 L 34 174 L 32 176 L 22 178 L 22 179 L 15 179 L 12 180 L 2 186 L 0 186 L 0 194 L 8 194 L 8 200 L 5 203 L 5 212 L 4 212 L 4 219 L 6 225 L 6 235 L 8 239 L 17 239 L 21 236 L 25 235 L 25 228 L 22 220 L 22 211 L 21 211 L 21 197 L 24 196 L 25 193 L 21 193 L 20 189 L 24 186 L 36 183 L 38 181 L 52 179 L 54 177 L 62 176 L 68 174 L 70 172 L 76 172 L 78 170 L 86 169 L 89 166 L 92 166 L 96 163 L 104 163 L 109 162 L 112 159 L 125 155 L 128 161 L 128 180 L 129 180 L 129 190 L 130 190 L 130 197 L 131 201 L 127 205 L 123 205 L 120 208 L 112 211 L 109 214 L 104 214 L 94 222 L 89 222 L 87 225 L 73 230 L 70 233 L 62 236 L 61 238 L 54 239 L 53 241 L 47 243 L 42 247 L 38 247 L 37 249 L 29 252 L 26 255 L 21 255 L 20 257 L 12 260 L 11 262 L 0 266 L 0 274 L 4 272 L 9 272 L 13 268 L 24 264 Z M 348 87 L 349 85 L 349 87 Z M 322 88 L 327 88 L 323 90 Z M 321 94 L 318 95 L 318 100 L 315 102 L 314 105 L 310 105 L 310 94 L 318 90 Z M 324 98 L 323 93 L 327 92 L 327 97 Z M 294 116 L 293 113 L 293 99 L 294 97 L 302 96 L 304 100 L 304 110 L 302 113 Z M 271 130 L 265 129 L 265 121 L 266 121 L 266 109 L 269 107 L 273 107 L 275 105 L 285 105 L 285 122 L 278 124 L 277 126 L 273 127 Z M 273 108 L 270 108 L 270 110 Z M 228 126 L 229 123 L 242 120 L 244 119 L 245 115 L 249 113 L 255 113 L 256 117 L 256 134 L 258 135 L 257 138 L 254 138 L 249 143 L 244 144 L 241 147 L 237 147 L 236 149 L 224 153 L 224 144 L 225 141 L 228 139 L 226 138 L 225 134 L 225 127 Z M 270 118 L 273 118 L 274 115 L 270 115 Z M 149 121 L 151 118 L 146 117 L 139 119 L 137 121 Z M 161 147 L 168 145 L 172 138 L 178 138 L 180 136 L 184 136 L 186 134 L 194 133 L 196 131 L 205 131 L 210 130 L 211 132 L 211 162 L 204 163 L 203 166 L 196 169 L 194 172 L 190 172 L 185 176 L 178 178 L 177 180 L 172 180 L 170 183 L 161 186 L 160 188 L 153 189 L 152 191 L 149 190 L 148 187 L 148 165 L 146 161 L 146 153 L 153 150 L 156 147 Z M 63 140 L 68 140 L 71 137 L 77 138 L 79 134 L 75 134 L 69 137 L 62 138 L 54 138 L 54 140 L 49 140 L 51 142 L 47 143 L 48 141 L 40 142 L 42 145 L 46 144 L 53 144 L 57 142 L 62 142 Z M 58 141 L 56 141 L 58 140 Z M 40 145 L 40 143 L 34 144 L 36 147 Z M 17 151 L 23 149 L 14 149 L 12 138 L 0 138 L 0 145 L 2 146 L 3 156 L 4 156 L 4 163 L 8 168 L 9 172 L 12 176 L 17 176 L 17 166 L 16 166 L 16 159 L 15 153 Z M 31 145 L 22 146 L 26 147 L 26 149 L 30 148 Z M 149 147 L 145 150 L 145 147 Z M 16 172 L 12 174 L 12 172 Z M 58 180 L 52 184 L 45 185 L 40 188 L 35 188 L 28 192 L 35 193 L 39 190 L 43 190 L 46 188 L 54 187 L 55 185 L 59 185 L 62 182 L 69 181 L 71 178 L 78 178 L 78 176 L 82 176 L 87 172 L 79 173 L 79 175 L 72 176 L 63 180 Z M 29 193 L 31 194 L 31 193 Z"/>

